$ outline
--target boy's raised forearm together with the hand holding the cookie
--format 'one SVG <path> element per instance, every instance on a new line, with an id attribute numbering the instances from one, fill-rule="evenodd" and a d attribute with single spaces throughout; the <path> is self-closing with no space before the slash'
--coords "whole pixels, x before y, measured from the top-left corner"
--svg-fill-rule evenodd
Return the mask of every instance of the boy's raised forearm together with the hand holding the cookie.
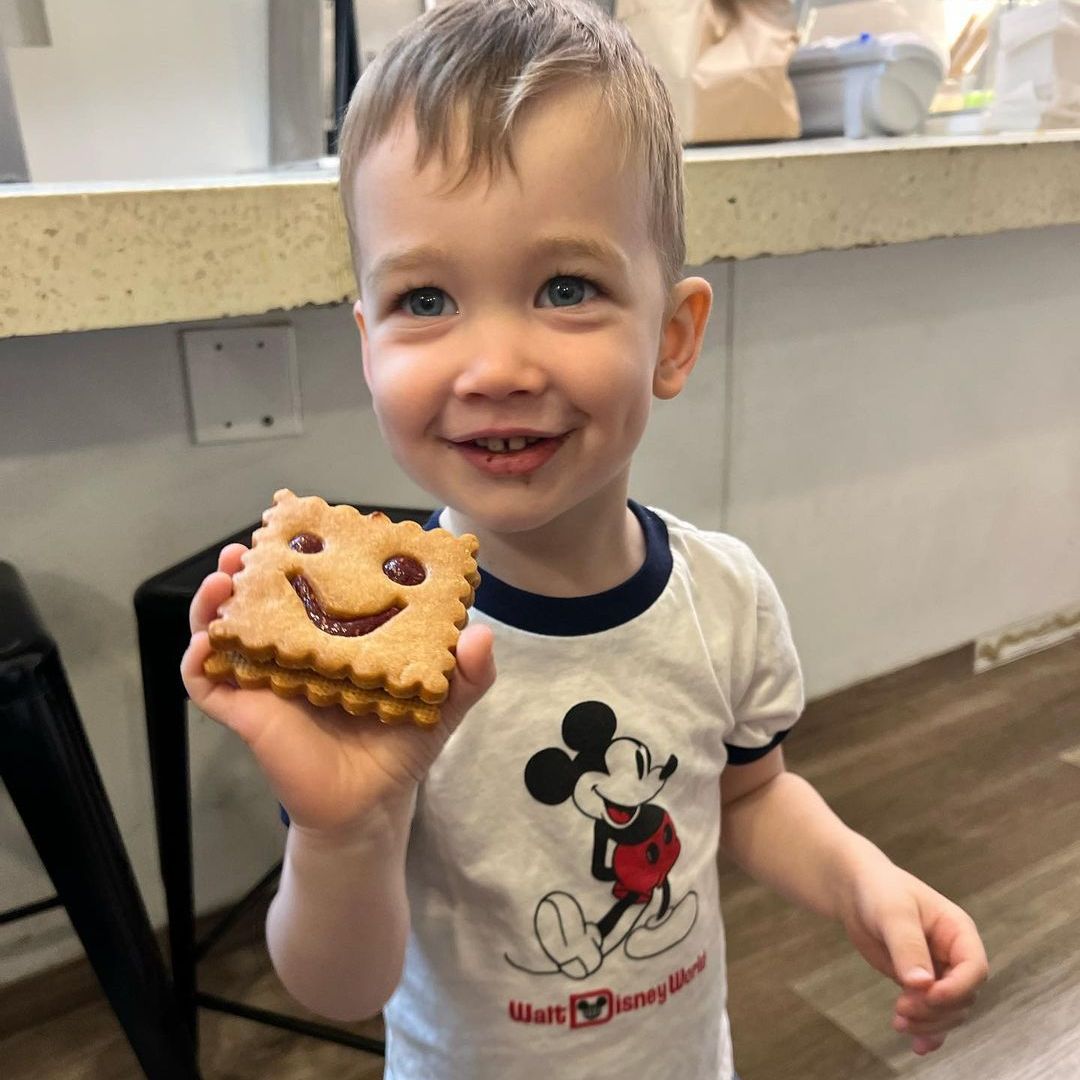
<path id="1" fill-rule="evenodd" d="M 291 825 L 281 886 L 267 917 L 282 982 L 335 1020 L 374 1015 L 401 977 L 409 914 L 405 851 L 419 784 L 469 710 L 495 680 L 492 635 L 467 626 L 442 720 L 384 725 L 208 679 L 207 626 L 232 595 L 241 544 L 191 602 L 180 674 L 192 703 L 244 740 Z"/>

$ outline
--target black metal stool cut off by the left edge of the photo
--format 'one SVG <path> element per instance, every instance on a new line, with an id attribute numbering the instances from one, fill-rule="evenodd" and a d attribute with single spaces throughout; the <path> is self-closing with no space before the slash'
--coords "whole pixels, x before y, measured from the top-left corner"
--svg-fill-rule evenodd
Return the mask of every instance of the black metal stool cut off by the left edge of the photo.
<path id="1" fill-rule="evenodd" d="M 143 1070 L 198 1080 L 135 875 L 56 643 L 0 562 L 0 774 Z M 9 912 L 4 921 L 53 901 Z"/>

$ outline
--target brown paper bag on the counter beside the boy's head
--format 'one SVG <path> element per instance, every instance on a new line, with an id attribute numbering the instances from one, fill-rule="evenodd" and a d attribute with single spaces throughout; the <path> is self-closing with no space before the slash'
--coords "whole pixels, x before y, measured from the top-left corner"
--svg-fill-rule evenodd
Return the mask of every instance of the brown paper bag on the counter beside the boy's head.
<path id="1" fill-rule="evenodd" d="M 791 0 L 616 0 L 615 14 L 663 77 L 685 144 L 798 137 Z"/>

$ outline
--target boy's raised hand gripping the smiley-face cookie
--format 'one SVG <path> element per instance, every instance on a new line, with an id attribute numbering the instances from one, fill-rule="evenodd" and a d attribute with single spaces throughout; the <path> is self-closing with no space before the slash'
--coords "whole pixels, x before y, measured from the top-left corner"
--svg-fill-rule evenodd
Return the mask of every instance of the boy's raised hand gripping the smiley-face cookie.
<path id="1" fill-rule="evenodd" d="M 247 743 L 291 821 L 301 827 L 348 831 L 370 810 L 410 799 L 450 733 L 495 681 L 490 630 L 462 631 L 458 666 L 434 728 L 387 725 L 337 707 L 318 708 L 303 698 L 284 699 L 269 689 L 213 681 L 203 674 L 211 652 L 206 627 L 232 595 L 232 575 L 245 551 L 239 543 L 222 549 L 217 572 L 203 581 L 191 602 L 191 643 L 180 663 L 191 701 Z"/>

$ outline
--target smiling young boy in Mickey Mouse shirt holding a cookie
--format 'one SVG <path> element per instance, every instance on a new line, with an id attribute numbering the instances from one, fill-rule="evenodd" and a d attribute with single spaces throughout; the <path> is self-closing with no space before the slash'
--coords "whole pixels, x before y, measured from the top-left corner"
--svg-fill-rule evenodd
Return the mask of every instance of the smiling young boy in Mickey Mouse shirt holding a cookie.
<path id="1" fill-rule="evenodd" d="M 729 1080 L 718 850 L 842 922 L 916 1053 L 986 976 L 971 919 L 785 772 L 802 688 L 766 571 L 627 498 L 710 311 L 680 170 L 662 83 L 588 0 L 408 28 L 353 96 L 341 189 L 382 433 L 480 539 L 444 721 L 207 681 L 239 545 L 192 604 L 191 698 L 292 822 L 274 966 L 326 1016 L 386 1007 L 394 1080 Z"/>

